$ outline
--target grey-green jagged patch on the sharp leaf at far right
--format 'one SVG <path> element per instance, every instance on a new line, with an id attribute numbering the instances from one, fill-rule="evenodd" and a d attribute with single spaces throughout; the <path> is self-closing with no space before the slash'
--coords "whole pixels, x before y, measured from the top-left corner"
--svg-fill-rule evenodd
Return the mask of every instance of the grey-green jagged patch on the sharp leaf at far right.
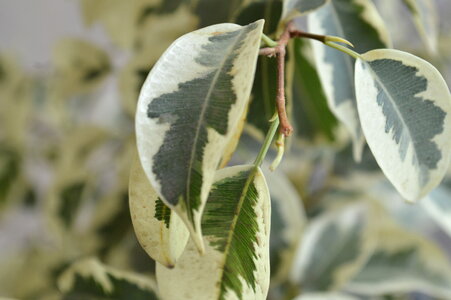
<path id="1" fill-rule="evenodd" d="M 421 170 L 420 183 L 429 179 L 442 155 L 433 141 L 443 132 L 446 113 L 433 101 L 418 96 L 427 90 L 425 77 L 417 76 L 416 67 L 393 59 L 369 61 L 378 89 L 377 103 L 386 117 L 385 132 L 392 134 L 405 159 L 409 146 L 414 149 L 412 163 Z M 365 66 L 365 64 L 363 64 Z"/>

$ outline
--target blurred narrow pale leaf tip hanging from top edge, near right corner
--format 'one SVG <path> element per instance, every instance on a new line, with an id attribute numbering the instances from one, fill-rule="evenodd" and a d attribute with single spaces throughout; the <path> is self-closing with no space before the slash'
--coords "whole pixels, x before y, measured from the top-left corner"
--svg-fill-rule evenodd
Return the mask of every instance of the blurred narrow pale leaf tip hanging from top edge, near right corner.
<path id="1" fill-rule="evenodd" d="M 437 52 L 438 20 L 434 0 L 403 0 L 412 13 L 413 22 L 431 53 Z"/>

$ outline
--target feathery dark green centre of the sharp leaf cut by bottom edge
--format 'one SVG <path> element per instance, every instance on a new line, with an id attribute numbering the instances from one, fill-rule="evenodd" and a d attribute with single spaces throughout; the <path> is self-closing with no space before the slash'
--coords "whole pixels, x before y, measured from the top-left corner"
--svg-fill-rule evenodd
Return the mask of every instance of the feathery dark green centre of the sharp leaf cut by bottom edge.
<path id="1" fill-rule="evenodd" d="M 254 207 L 258 192 L 253 184 L 254 176 L 250 170 L 216 182 L 205 206 L 202 219 L 204 236 L 209 238 L 212 247 L 226 255 L 220 280 L 221 300 L 225 299 L 228 289 L 243 299 L 240 277 L 255 291 L 258 224 Z"/>

